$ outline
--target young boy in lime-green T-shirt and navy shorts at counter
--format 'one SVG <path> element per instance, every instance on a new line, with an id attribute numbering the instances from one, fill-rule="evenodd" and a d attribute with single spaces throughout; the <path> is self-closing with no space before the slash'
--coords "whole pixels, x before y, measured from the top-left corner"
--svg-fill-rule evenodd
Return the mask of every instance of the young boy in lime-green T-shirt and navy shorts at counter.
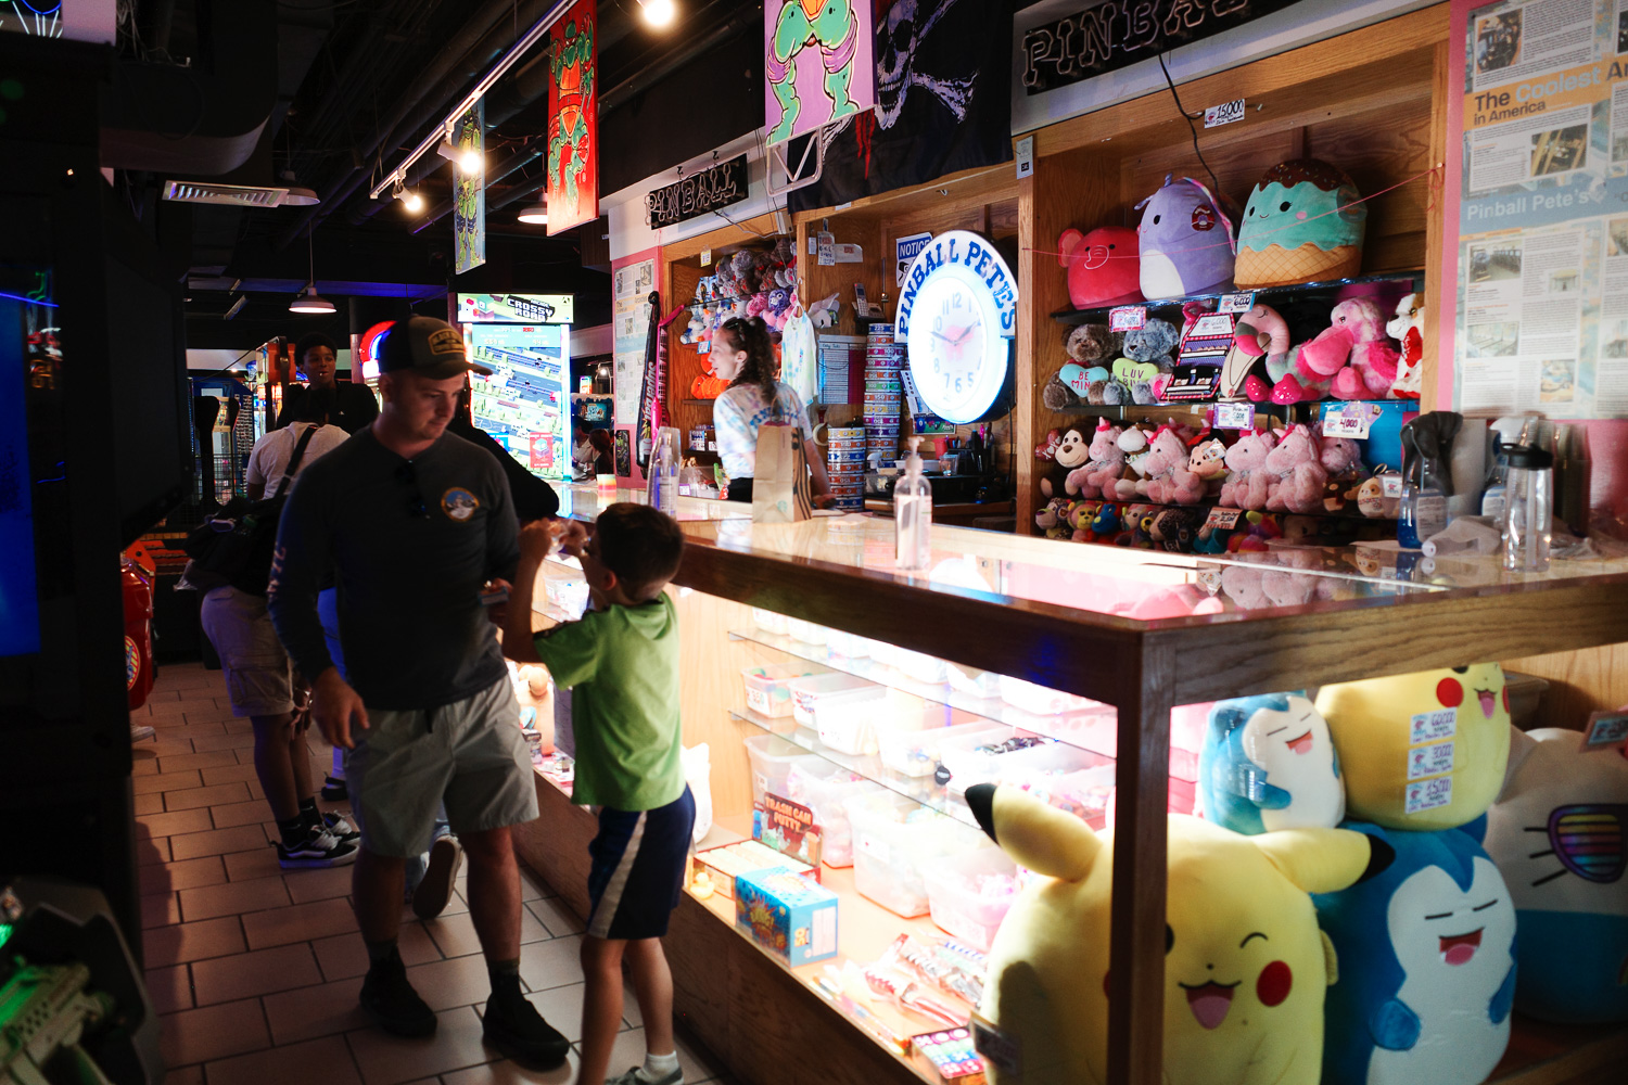
<path id="1" fill-rule="evenodd" d="M 532 636 L 531 599 L 542 560 L 558 534 L 583 563 L 593 607 Z M 622 1026 L 622 960 L 645 1018 L 645 1065 L 615 1085 L 682 1085 L 672 1043 L 672 973 L 661 952 L 679 906 L 695 825 L 679 742 L 679 623 L 663 594 L 679 569 L 684 535 L 645 504 L 612 504 L 593 525 L 529 524 L 510 589 L 503 652 L 545 664 L 560 686 L 575 686 L 573 802 L 599 807 L 599 834 L 588 846 L 591 914 L 583 937 L 583 1061 L 578 1085 L 607 1080 L 610 1046 Z"/>

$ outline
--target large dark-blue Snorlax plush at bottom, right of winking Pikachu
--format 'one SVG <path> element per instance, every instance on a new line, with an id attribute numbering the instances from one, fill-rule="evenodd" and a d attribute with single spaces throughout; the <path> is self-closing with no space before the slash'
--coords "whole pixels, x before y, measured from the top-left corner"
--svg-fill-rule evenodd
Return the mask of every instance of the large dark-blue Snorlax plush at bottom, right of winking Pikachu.
<path id="1" fill-rule="evenodd" d="M 1468 828 L 1350 828 L 1369 875 L 1315 895 L 1340 981 L 1328 987 L 1327 1085 L 1480 1085 L 1509 1044 L 1516 908 Z"/>

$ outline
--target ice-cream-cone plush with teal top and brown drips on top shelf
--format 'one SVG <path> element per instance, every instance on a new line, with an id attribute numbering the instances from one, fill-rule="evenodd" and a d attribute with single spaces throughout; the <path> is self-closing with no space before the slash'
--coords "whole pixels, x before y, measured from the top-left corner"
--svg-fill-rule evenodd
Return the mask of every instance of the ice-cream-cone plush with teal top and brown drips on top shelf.
<path id="1" fill-rule="evenodd" d="M 1267 171 L 1237 231 L 1239 290 L 1350 278 L 1363 267 L 1368 205 L 1338 166 L 1296 158 Z"/>

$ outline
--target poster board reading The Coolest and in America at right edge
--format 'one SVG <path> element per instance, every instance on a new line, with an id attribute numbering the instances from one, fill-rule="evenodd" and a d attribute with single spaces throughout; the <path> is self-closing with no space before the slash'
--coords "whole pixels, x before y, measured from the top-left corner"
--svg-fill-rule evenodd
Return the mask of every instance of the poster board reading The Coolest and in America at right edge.
<path id="1" fill-rule="evenodd" d="M 1628 0 L 1460 2 L 1454 24 L 1452 405 L 1628 418 Z"/>

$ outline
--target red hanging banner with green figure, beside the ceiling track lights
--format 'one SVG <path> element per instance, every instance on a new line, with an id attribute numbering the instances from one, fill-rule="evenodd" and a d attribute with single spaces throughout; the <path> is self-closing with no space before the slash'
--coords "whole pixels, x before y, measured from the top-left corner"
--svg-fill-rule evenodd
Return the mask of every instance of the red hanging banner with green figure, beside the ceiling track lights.
<path id="1" fill-rule="evenodd" d="M 599 218 L 599 18 L 580 0 L 549 31 L 549 236 Z"/>

